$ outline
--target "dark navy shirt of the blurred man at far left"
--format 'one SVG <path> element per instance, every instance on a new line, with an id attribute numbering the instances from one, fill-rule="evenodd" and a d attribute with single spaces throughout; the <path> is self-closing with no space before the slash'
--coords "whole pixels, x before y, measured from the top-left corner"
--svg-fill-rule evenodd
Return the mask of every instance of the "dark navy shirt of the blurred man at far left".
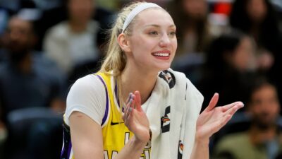
<path id="1" fill-rule="evenodd" d="M 49 107 L 51 100 L 63 99 L 63 75 L 43 56 L 34 55 L 32 71 L 21 73 L 11 62 L 0 65 L 0 101 L 3 119 L 13 110 L 27 107 Z"/>

